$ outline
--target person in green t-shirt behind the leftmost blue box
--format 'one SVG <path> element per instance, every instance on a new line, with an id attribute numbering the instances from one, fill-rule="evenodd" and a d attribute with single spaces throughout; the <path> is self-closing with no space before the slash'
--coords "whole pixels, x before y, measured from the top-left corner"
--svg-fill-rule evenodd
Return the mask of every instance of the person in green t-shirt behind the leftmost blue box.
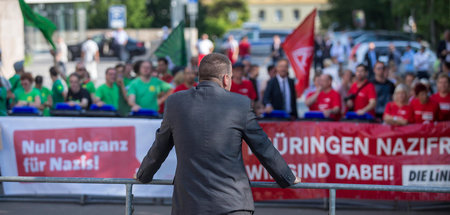
<path id="1" fill-rule="evenodd" d="M 39 90 L 31 87 L 33 76 L 29 72 L 25 72 L 20 76 L 22 88 L 14 91 L 14 103 L 16 107 L 32 106 L 39 108 L 41 106 L 41 95 Z"/>

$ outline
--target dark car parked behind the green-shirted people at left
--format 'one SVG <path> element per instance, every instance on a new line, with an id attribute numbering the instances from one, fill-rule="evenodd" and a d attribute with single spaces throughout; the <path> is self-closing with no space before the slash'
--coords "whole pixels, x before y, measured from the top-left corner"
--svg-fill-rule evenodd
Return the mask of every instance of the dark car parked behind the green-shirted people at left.
<path id="1" fill-rule="evenodd" d="M 107 38 L 104 34 L 97 34 L 92 37 L 92 40 L 97 43 L 100 57 L 119 57 L 119 47 L 113 38 Z M 81 46 L 85 41 L 75 45 L 69 45 L 69 60 L 75 60 L 81 57 Z M 134 56 L 144 55 L 146 48 L 144 42 L 139 42 L 133 38 L 128 38 L 128 43 L 125 46 L 129 53 L 129 60 Z"/>

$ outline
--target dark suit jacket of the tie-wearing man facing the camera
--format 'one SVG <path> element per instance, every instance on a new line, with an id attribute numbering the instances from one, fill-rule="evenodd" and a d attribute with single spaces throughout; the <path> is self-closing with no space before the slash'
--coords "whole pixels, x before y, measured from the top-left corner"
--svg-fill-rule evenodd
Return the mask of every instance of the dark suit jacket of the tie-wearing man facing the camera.
<path id="1" fill-rule="evenodd" d="M 288 78 L 288 83 L 291 92 L 291 116 L 297 118 L 297 95 L 295 93 L 294 80 Z M 277 77 L 274 77 L 267 82 L 263 103 L 264 105 L 271 104 L 275 110 L 284 110 L 284 98 Z"/>

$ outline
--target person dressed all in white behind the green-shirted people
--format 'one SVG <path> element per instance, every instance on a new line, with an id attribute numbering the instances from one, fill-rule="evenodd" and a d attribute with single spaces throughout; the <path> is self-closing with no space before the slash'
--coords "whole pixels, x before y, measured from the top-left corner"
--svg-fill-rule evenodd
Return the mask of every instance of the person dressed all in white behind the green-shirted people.
<path id="1" fill-rule="evenodd" d="M 86 66 L 91 80 L 97 80 L 97 63 L 100 62 L 100 53 L 97 43 L 91 37 L 88 37 L 88 40 L 81 46 L 81 61 Z"/>

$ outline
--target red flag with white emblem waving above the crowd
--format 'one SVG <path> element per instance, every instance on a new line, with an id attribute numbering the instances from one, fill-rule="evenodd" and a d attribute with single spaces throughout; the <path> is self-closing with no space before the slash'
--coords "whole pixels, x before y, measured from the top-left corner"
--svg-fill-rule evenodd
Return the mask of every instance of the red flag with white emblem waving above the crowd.
<path id="1" fill-rule="evenodd" d="M 301 97 L 309 84 L 309 69 L 311 68 L 314 52 L 314 9 L 303 22 L 286 37 L 282 44 L 283 50 L 289 58 L 297 77 L 295 91 Z"/>

